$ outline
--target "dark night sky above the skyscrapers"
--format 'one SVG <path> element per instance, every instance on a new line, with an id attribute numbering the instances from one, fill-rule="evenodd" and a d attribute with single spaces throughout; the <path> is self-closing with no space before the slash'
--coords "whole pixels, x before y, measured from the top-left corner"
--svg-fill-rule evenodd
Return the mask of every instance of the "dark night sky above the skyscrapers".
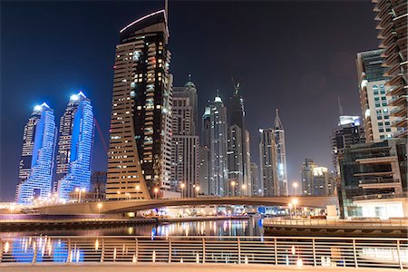
<path id="1" fill-rule="evenodd" d="M 13 200 L 24 124 L 47 102 L 57 123 L 69 96 L 82 89 L 109 139 L 112 65 L 119 30 L 162 2 L 1 2 L 0 200 Z M 359 114 L 355 53 L 375 49 L 370 1 L 170 1 L 170 72 L 199 90 L 199 116 L 231 76 L 245 98 L 252 158 L 258 129 L 279 109 L 287 135 L 288 179 L 300 179 L 307 158 L 331 167 L 329 136 L 337 96 Z M 96 133 L 93 169 L 106 155 Z"/>

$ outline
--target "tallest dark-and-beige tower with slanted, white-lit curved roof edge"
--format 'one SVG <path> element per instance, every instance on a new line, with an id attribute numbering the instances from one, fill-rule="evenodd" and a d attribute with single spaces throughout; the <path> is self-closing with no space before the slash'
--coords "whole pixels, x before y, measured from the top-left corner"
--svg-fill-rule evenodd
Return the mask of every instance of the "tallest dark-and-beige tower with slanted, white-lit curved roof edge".
<path id="1" fill-rule="evenodd" d="M 120 31 L 116 46 L 107 199 L 150 199 L 170 190 L 171 84 L 164 10 Z"/>

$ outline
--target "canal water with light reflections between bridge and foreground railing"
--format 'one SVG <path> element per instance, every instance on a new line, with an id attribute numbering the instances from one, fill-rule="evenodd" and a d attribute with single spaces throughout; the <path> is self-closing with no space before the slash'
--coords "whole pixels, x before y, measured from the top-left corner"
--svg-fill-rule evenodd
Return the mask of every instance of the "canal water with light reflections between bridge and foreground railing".
<path id="1" fill-rule="evenodd" d="M 22 238 L 26 236 L 263 236 L 262 219 L 227 219 L 209 221 L 188 221 L 159 224 L 138 224 L 115 226 L 112 228 L 53 228 L 31 231 L 0 232 L 3 238 Z"/>

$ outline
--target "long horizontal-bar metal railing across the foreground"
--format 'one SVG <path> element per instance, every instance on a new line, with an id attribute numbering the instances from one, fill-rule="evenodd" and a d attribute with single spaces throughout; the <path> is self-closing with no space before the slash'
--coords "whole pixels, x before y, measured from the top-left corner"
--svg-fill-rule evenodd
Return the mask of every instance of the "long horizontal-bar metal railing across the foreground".
<path id="1" fill-rule="evenodd" d="M 0 265 L 160 262 L 408 267 L 408 238 L 24 237 L 0 239 Z"/>

